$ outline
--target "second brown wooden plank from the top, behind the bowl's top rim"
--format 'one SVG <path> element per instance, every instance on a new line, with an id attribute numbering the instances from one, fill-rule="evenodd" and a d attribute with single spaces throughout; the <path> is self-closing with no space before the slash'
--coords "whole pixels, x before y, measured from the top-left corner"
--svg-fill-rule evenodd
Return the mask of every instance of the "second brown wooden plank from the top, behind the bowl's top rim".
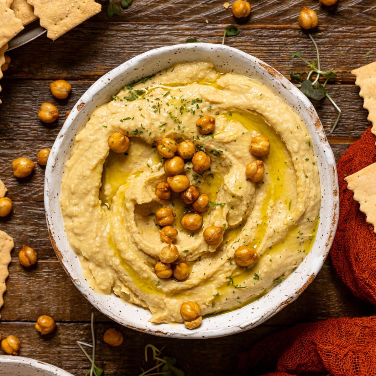
<path id="1" fill-rule="evenodd" d="M 170 24 L 130 26 L 89 21 L 56 41 L 41 36 L 11 51 L 12 64 L 6 77 L 98 79 L 111 68 L 151 48 L 184 43 L 192 37 L 221 43 L 225 27 L 226 24 L 210 23 L 171 27 Z M 226 44 L 256 55 L 289 76 L 291 70 L 307 71 L 301 61 L 290 61 L 291 53 L 301 50 L 308 59 L 315 58 L 312 42 L 305 33 L 297 31 L 297 28 L 284 26 L 242 25 L 240 34 L 228 37 Z M 321 50 L 322 67 L 335 68 L 337 82 L 354 82 L 350 71 L 375 59 L 375 26 L 323 26 L 320 31 L 322 34 L 315 38 Z"/>

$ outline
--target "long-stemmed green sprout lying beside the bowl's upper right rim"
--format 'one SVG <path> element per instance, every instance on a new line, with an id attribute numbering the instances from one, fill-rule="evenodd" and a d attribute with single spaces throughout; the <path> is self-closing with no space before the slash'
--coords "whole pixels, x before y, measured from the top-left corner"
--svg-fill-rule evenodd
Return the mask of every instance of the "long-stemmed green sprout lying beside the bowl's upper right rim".
<path id="1" fill-rule="evenodd" d="M 336 119 L 336 121 L 335 121 L 335 123 L 334 123 L 334 125 L 333 125 L 333 127 L 330 131 L 330 133 L 332 133 L 334 131 L 335 127 L 337 127 L 338 121 L 340 120 L 341 109 L 337 106 L 337 104 L 334 102 L 332 97 L 326 91 L 325 86 L 330 79 L 337 77 L 337 74 L 335 74 L 333 72 L 333 69 L 329 69 L 327 71 L 321 70 L 320 54 L 318 52 L 317 44 L 316 44 L 316 42 L 313 39 L 311 34 L 309 34 L 309 38 L 311 38 L 311 40 L 312 40 L 312 42 L 315 46 L 315 50 L 316 50 L 316 54 L 317 54 L 317 67 L 316 67 L 315 61 L 309 62 L 307 59 L 302 57 L 302 53 L 300 51 L 295 52 L 293 55 L 290 56 L 290 59 L 299 58 L 300 60 L 304 61 L 311 68 L 311 71 L 309 71 L 307 78 L 303 81 L 302 81 L 301 75 L 299 73 L 291 72 L 290 78 L 291 78 L 291 81 L 297 83 L 296 86 L 298 88 L 300 88 L 300 90 L 303 92 L 303 94 L 305 94 L 308 98 L 314 99 L 314 100 L 321 100 L 321 99 L 327 97 L 327 99 L 330 100 L 332 105 L 338 111 L 337 119 Z M 316 77 L 315 77 L 314 80 L 311 81 L 312 74 L 316 74 Z M 321 83 L 318 82 L 320 75 L 325 77 L 325 82 L 322 85 L 321 85 Z"/>

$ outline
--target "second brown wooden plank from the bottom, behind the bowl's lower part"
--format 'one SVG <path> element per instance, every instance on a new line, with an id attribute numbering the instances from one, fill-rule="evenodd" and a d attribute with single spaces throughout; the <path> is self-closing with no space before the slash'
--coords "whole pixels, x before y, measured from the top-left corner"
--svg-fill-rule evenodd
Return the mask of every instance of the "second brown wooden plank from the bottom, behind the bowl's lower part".
<path id="1" fill-rule="evenodd" d="M 17 256 L 17 252 L 13 256 Z M 31 269 L 25 269 L 14 260 L 9 274 L 2 308 L 3 321 L 36 320 L 42 314 L 51 315 L 57 321 L 89 321 L 90 304 L 74 287 L 55 256 L 50 261 L 39 261 Z M 374 312 L 375 308 L 370 304 L 352 296 L 327 260 L 307 290 L 268 320 L 268 325 L 294 325 L 327 317 L 353 317 Z M 102 315 L 100 320 L 107 319 Z"/>

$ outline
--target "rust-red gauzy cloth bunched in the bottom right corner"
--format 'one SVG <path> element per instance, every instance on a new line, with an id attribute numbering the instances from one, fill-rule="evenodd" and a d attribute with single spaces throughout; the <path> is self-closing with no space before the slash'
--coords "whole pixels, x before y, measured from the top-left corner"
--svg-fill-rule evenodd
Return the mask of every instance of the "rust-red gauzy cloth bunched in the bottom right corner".
<path id="1" fill-rule="evenodd" d="M 376 316 L 300 324 L 270 335 L 240 355 L 237 375 L 261 373 L 264 376 L 374 376 Z"/>

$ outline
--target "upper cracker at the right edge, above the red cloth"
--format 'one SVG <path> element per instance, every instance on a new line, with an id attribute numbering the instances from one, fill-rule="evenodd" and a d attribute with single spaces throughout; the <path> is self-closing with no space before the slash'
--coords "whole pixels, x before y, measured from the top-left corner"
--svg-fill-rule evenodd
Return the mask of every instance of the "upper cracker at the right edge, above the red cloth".
<path id="1" fill-rule="evenodd" d="M 363 107 L 368 110 L 368 120 L 372 123 L 371 132 L 376 135 L 376 61 L 351 71 L 355 74 L 355 84 L 360 87 Z"/>

